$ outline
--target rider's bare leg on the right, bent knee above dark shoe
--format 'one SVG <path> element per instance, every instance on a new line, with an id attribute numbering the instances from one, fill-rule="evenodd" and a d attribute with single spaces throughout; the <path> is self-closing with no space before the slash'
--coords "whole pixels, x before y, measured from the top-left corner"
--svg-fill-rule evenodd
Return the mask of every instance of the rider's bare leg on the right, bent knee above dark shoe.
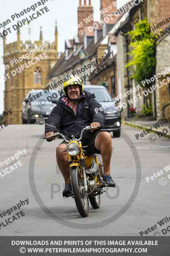
<path id="1" fill-rule="evenodd" d="M 101 151 L 104 175 L 110 174 L 112 138 L 109 132 L 100 132 L 95 139 L 95 148 Z"/>

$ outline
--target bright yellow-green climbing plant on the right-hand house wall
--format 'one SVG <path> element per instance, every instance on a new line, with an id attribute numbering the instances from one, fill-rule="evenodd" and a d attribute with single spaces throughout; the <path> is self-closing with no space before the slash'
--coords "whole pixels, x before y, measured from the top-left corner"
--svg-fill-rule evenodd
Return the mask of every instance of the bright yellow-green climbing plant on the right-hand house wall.
<path id="1" fill-rule="evenodd" d="M 140 83 L 142 80 L 149 79 L 152 76 L 152 68 L 156 65 L 155 45 L 154 42 L 152 43 L 149 40 L 149 37 L 153 36 L 153 34 L 150 32 L 150 24 L 146 19 L 139 20 L 136 23 L 136 29 L 127 34 L 131 36 L 129 46 L 132 47 L 132 51 L 129 54 L 131 60 L 125 67 L 133 66 L 131 78 Z M 133 38 L 135 38 L 136 42 L 132 42 Z"/>

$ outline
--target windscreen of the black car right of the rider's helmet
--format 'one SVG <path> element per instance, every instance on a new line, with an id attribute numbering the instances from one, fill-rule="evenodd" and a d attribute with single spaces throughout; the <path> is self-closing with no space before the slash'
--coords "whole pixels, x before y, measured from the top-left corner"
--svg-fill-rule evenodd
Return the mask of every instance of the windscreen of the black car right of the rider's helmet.
<path id="1" fill-rule="evenodd" d="M 85 88 L 86 91 L 94 93 L 96 100 L 100 102 L 112 101 L 110 94 L 105 89 Z"/>

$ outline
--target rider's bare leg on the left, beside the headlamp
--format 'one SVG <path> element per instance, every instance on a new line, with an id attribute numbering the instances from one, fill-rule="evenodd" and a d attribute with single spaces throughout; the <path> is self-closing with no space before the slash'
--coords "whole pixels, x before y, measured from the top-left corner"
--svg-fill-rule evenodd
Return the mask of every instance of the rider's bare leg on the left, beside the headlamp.
<path id="1" fill-rule="evenodd" d="M 71 184 L 67 152 L 60 152 L 66 150 L 66 146 L 66 144 L 61 144 L 56 148 L 56 160 L 58 167 L 63 175 L 65 184 Z"/>

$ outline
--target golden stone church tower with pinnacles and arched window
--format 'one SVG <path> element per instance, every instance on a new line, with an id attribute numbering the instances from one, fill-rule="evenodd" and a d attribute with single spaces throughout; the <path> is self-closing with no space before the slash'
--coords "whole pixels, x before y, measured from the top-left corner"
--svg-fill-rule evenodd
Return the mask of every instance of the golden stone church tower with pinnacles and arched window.
<path id="1" fill-rule="evenodd" d="M 44 42 L 42 30 L 40 40 L 26 41 L 20 39 L 17 30 L 17 41 L 6 44 L 4 36 L 5 90 L 4 111 L 12 109 L 8 124 L 22 123 L 22 101 L 32 89 L 42 89 L 48 83 L 48 73 L 60 58 L 58 53 L 58 32 L 55 26 L 54 43 Z M 43 54 L 43 52 L 45 52 Z M 41 57 L 40 57 L 40 54 Z M 39 57 L 38 57 L 39 56 Z"/>

